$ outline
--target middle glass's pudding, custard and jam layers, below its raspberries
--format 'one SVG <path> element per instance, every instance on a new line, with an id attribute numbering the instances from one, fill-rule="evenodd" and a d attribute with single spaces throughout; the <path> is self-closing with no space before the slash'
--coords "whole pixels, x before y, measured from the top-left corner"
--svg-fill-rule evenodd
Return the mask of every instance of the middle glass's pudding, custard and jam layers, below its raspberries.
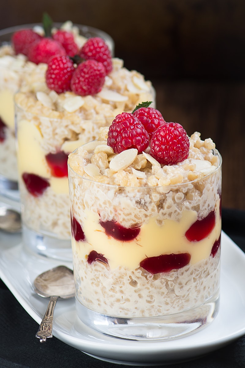
<path id="1" fill-rule="evenodd" d="M 37 65 L 15 96 L 22 220 L 33 230 L 70 239 L 68 154 L 96 139 L 100 128 L 109 126 L 122 111 L 131 112 L 146 100 L 154 105 L 155 96 L 151 82 L 116 58 L 102 91 L 94 96 L 57 94 L 47 88 L 45 72 L 46 64 Z M 55 160 L 59 164 L 64 160 L 64 172 L 57 172 Z M 26 184 L 29 178 L 34 183 L 31 188 Z M 37 193 L 40 181 L 46 187 Z"/>

